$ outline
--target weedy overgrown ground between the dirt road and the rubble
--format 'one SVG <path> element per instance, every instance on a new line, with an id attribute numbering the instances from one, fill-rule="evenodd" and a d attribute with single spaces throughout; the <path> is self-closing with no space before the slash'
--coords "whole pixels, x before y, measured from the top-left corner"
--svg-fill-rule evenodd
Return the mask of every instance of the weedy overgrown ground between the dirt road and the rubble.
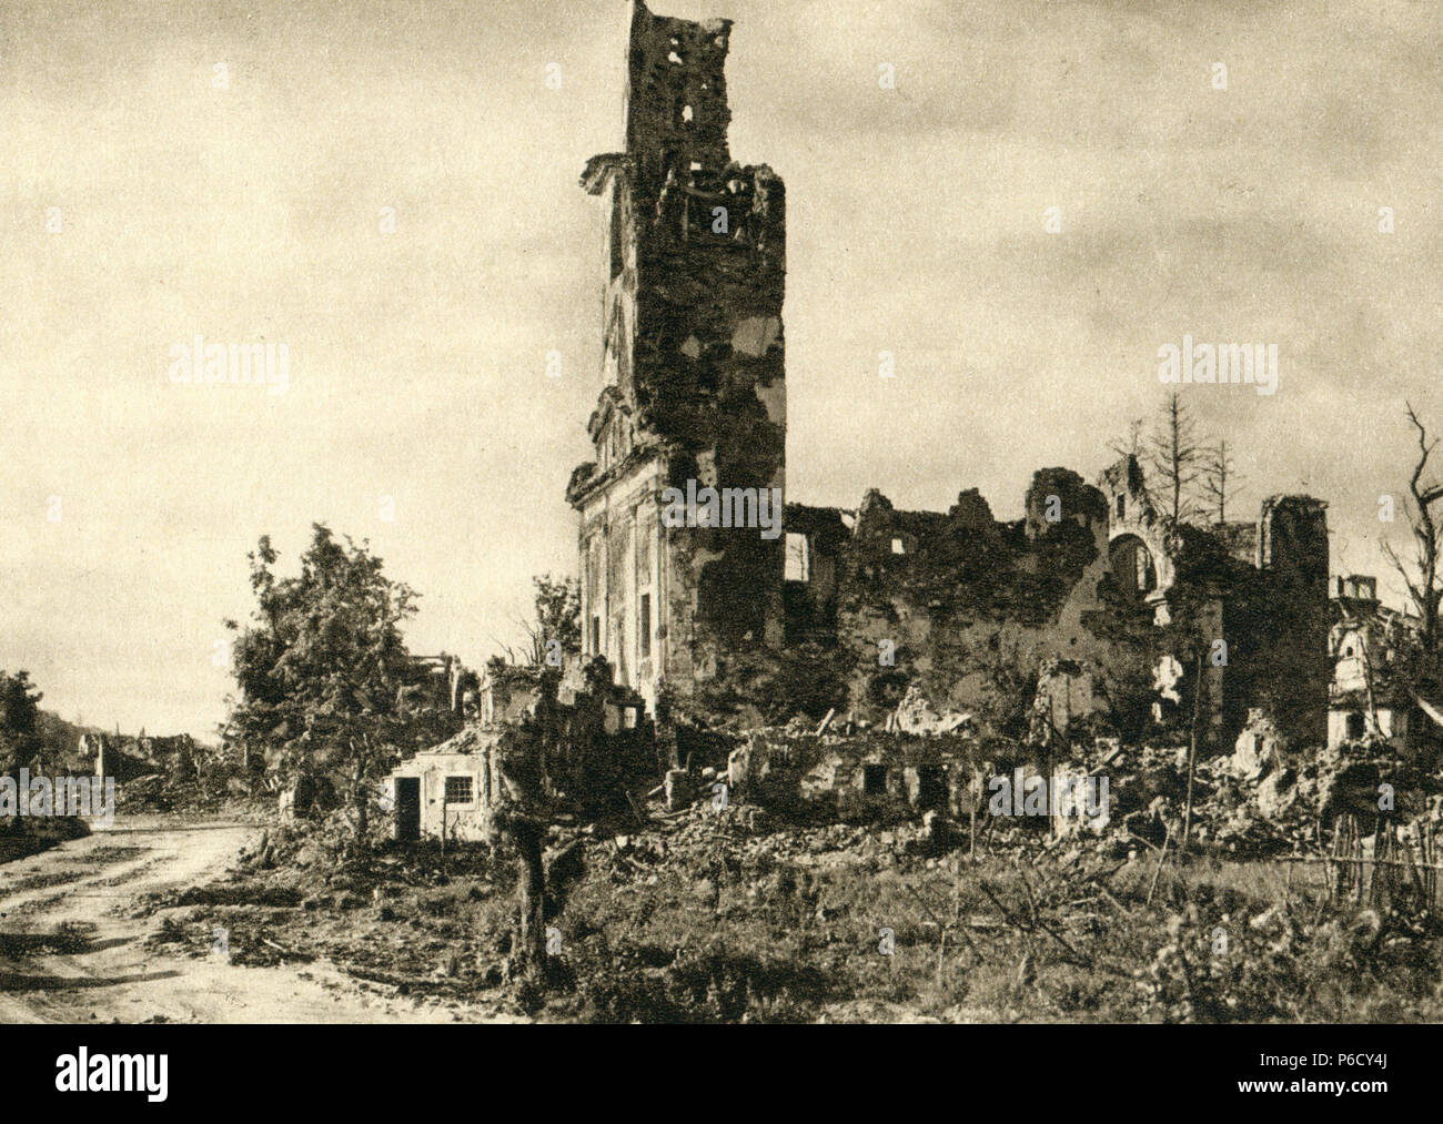
<path id="1" fill-rule="evenodd" d="M 623 830 L 625 828 L 625 830 Z M 553 828 L 543 977 L 518 970 L 515 859 L 273 835 L 166 939 L 242 964 L 329 958 L 364 985 L 567 1022 L 1400 1022 L 1443 1017 L 1443 932 L 1333 905 L 1319 867 L 1163 866 L 912 825 L 779 830 L 697 808 Z M 945 931 L 945 938 L 944 938 Z"/>

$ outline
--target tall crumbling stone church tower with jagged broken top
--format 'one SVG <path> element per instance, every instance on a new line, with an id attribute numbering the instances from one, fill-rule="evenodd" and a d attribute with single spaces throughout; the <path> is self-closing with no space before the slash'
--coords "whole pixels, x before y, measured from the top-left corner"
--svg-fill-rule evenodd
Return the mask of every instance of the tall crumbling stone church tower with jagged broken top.
<path id="1" fill-rule="evenodd" d="M 782 639 L 784 540 L 758 524 L 779 525 L 784 488 L 785 189 L 732 160 L 730 35 L 730 20 L 654 16 L 636 0 L 626 149 L 582 175 L 608 208 L 596 460 L 567 489 L 582 644 L 652 704 L 662 684 L 690 694 L 729 651 Z M 732 525 L 668 525 L 664 492 L 688 485 L 766 506 Z"/>

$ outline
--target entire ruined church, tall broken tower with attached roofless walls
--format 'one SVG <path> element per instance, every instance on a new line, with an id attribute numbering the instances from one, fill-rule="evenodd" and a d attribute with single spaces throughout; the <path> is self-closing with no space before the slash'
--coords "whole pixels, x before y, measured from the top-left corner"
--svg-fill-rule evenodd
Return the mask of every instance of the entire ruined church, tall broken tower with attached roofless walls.
<path id="1" fill-rule="evenodd" d="M 1266 706 L 1322 740 L 1328 527 L 1309 496 L 1172 528 L 1128 457 L 1095 486 L 1038 472 L 1016 522 L 975 491 L 947 512 L 869 492 L 856 511 L 788 504 L 785 534 L 759 530 L 785 486 L 786 214 L 772 170 L 727 147 L 730 33 L 638 0 L 625 150 L 582 176 L 608 209 L 596 459 L 567 489 L 583 658 L 606 657 L 652 708 L 739 654 L 807 648 L 848 669 L 840 701 L 870 721 L 918 687 L 983 711 L 1040 691 L 1053 724 L 1126 727 L 1186 717 L 1202 657 L 1209 739 Z M 707 488 L 720 509 L 668 517 L 668 489 Z"/>

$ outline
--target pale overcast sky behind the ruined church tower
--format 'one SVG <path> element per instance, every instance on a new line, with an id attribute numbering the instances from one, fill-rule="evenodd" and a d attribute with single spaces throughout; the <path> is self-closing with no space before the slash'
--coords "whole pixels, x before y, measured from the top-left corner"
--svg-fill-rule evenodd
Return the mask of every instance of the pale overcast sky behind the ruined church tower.
<path id="1" fill-rule="evenodd" d="M 788 183 L 789 499 L 975 486 L 1016 518 L 1035 469 L 1095 478 L 1189 333 L 1278 346 L 1271 397 L 1185 388 L 1240 517 L 1328 499 L 1335 571 L 1403 543 L 1404 397 L 1443 433 L 1443 6 L 652 7 L 737 20 L 732 150 Z M 209 734 L 245 554 L 294 564 L 313 521 L 424 594 L 413 649 L 515 638 L 530 576 L 576 568 L 603 280 L 576 177 L 620 143 L 628 19 L 7 0 L 0 668 Z M 173 384 L 196 335 L 286 343 L 286 394 Z"/>

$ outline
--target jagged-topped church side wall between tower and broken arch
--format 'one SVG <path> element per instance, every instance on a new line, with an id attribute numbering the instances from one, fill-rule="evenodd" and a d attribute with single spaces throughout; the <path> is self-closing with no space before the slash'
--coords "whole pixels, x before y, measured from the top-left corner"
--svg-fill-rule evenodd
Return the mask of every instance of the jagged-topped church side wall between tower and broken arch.
<path id="1" fill-rule="evenodd" d="M 1110 599 L 1107 511 L 1076 473 L 1036 473 L 1014 524 L 993 519 L 975 491 L 948 512 L 898 511 L 869 492 L 848 537 L 817 534 L 820 509 L 795 524 L 792 511 L 807 573 L 788 581 L 788 605 L 834 602 L 834 638 L 854 665 L 847 704 L 863 720 L 882 724 L 915 685 L 1020 736 L 1046 661 L 1088 669 L 1088 690 L 1063 695 L 1068 721 L 1150 680 L 1150 620 Z M 811 592 L 831 574 L 824 594 Z M 817 636 L 817 620 L 798 623 Z"/>

